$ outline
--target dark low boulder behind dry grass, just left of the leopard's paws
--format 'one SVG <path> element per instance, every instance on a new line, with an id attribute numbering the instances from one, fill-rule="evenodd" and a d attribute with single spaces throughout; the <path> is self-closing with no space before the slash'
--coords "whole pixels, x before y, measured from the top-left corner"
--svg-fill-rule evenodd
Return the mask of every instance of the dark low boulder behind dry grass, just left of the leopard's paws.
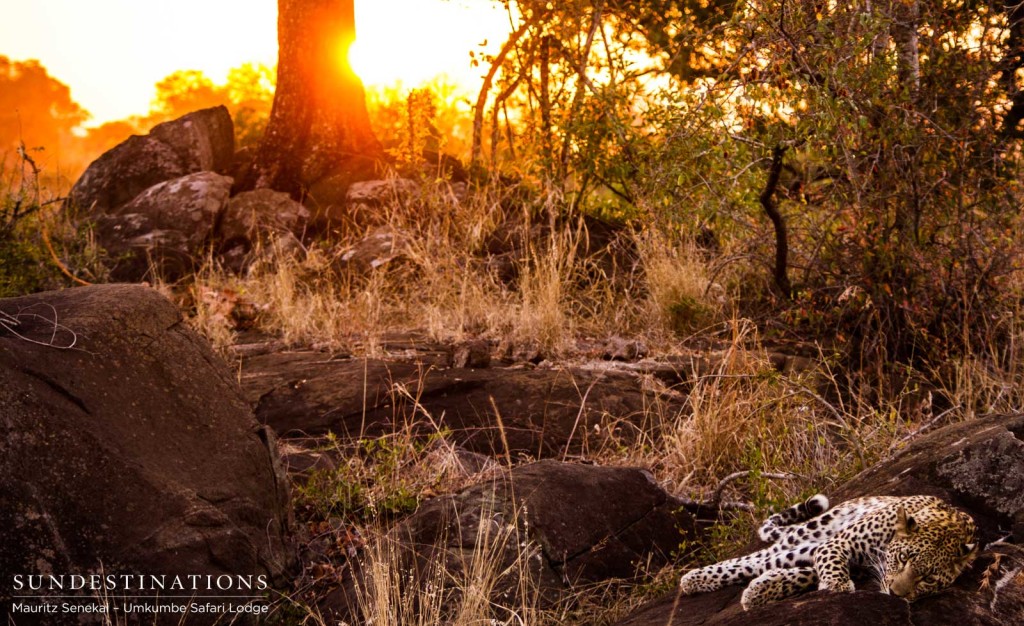
<path id="1" fill-rule="evenodd" d="M 641 566 L 667 564 L 695 530 L 694 517 L 642 469 L 540 461 L 421 505 L 387 547 L 366 551 L 355 580 L 325 609 L 350 618 L 346 607 L 360 604 L 355 590 L 373 586 L 357 584 L 361 573 L 379 575 L 382 566 L 409 573 L 401 593 L 443 581 L 445 603 L 457 606 L 463 589 L 489 580 L 496 606 L 543 609 L 577 585 L 635 579 Z"/>

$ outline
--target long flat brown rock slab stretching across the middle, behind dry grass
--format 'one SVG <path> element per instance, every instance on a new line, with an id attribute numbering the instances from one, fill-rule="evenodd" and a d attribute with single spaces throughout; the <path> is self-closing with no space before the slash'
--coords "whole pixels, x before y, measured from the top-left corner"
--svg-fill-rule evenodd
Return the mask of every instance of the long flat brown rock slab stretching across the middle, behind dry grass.
<path id="1" fill-rule="evenodd" d="M 482 454 L 544 458 L 629 444 L 679 401 L 629 373 L 459 369 L 434 363 L 278 352 L 243 361 L 256 416 L 283 435 L 374 435 L 407 424 L 450 429 Z M 507 447 L 506 447 L 507 444 Z"/>

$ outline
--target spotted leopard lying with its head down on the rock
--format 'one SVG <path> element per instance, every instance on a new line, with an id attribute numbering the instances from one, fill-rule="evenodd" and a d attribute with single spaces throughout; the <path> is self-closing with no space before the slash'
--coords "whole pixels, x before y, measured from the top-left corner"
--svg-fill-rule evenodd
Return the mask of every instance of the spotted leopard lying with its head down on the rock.
<path id="1" fill-rule="evenodd" d="M 748 583 L 743 610 L 815 588 L 853 591 L 851 567 L 907 601 L 953 583 L 978 553 L 968 513 L 935 496 L 866 496 L 829 508 L 817 494 L 770 515 L 759 530 L 770 546 L 686 573 L 684 594 Z"/>

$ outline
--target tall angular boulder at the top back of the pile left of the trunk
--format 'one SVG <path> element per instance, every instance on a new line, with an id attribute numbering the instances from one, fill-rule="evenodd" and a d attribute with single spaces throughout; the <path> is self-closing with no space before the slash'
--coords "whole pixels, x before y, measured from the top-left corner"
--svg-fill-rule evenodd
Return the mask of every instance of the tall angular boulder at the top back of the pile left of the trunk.
<path id="1" fill-rule="evenodd" d="M 158 182 L 201 171 L 227 173 L 233 156 L 227 109 L 196 111 L 103 153 L 75 182 L 69 199 L 87 216 L 103 215 Z"/>

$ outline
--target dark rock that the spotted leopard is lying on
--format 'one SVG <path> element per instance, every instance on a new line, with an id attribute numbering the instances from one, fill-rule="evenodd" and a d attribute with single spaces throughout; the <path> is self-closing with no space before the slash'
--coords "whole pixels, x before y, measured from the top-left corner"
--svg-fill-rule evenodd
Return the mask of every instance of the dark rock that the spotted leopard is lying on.
<path id="1" fill-rule="evenodd" d="M 621 626 L 690 624 L 1024 624 L 1024 415 L 993 415 L 938 429 L 835 494 L 938 496 L 971 513 L 984 551 L 954 585 L 912 604 L 874 591 L 816 591 L 751 612 L 740 586 L 667 596 Z M 870 589 L 870 585 L 866 585 Z M 877 587 L 876 587 L 877 588 Z"/>

